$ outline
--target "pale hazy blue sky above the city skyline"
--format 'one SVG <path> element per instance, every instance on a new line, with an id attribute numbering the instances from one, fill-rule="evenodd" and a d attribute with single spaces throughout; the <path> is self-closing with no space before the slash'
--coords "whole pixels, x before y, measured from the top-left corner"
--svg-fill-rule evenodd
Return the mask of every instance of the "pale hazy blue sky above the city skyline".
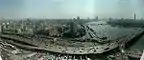
<path id="1" fill-rule="evenodd" d="M 4 18 L 131 18 L 144 16 L 143 0 L 0 0 Z"/>

